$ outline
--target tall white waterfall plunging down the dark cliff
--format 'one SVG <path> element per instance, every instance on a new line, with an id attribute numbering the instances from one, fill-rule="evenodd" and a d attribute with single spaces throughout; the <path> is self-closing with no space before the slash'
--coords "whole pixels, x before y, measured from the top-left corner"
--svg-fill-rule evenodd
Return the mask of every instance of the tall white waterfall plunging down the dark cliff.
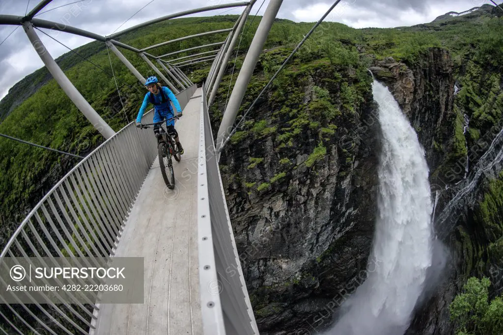
<path id="1" fill-rule="evenodd" d="M 432 264 L 432 200 L 425 152 L 389 90 L 375 81 L 382 152 L 378 215 L 367 280 L 327 333 L 402 335 Z M 372 271 L 372 272 L 371 272 Z"/>

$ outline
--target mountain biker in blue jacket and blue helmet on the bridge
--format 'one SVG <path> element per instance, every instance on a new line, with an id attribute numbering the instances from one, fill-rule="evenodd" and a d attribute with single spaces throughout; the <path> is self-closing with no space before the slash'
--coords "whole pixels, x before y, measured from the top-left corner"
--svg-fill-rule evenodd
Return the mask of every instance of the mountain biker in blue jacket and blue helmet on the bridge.
<path id="1" fill-rule="evenodd" d="M 173 111 L 173 107 L 171 106 L 170 101 L 173 101 L 175 108 L 177 109 L 177 115 L 182 113 L 182 108 L 180 107 L 180 103 L 177 100 L 177 97 L 173 92 L 159 84 L 157 77 L 151 76 L 147 78 L 145 82 L 145 86 L 147 86 L 149 92 L 145 94 L 143 98 L 143 103 L 141 104 L 140 111 L 138 112 L 138 116 L 136 117 L 136 127 L 141 128 L 141 118 L 143 117 L 143 113 L 145 113 L 145 109 L 147 108 L 148 103 L 154 105 L 154 120 L 153 123 L 158 123 L 164 121 L 166 119 L 174 118 L 175 113 Z M 154 134 L 157 135 L 160 130 L 160 124 L 154 126 Z M 166 130 L 167 132 L 175 139 L 177 143 L 177 148 L 180 154 L 184 153 L 184 148 L 182 148 L 182 144 L 178 138 L 178 132 L 175 129 L 175 120 L 171 120 L 170 122 L 166 121 Z"/>

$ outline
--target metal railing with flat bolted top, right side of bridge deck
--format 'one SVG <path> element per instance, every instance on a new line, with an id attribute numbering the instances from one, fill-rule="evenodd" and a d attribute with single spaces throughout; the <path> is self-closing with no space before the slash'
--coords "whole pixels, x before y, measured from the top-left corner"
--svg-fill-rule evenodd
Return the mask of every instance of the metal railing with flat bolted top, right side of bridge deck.
<path id="1" fill-rule="evenodd" d="M 204 334 L 258 334 L 215 157 L 206 93 L 203 84 L 198 160 L 198 246 Z"/>

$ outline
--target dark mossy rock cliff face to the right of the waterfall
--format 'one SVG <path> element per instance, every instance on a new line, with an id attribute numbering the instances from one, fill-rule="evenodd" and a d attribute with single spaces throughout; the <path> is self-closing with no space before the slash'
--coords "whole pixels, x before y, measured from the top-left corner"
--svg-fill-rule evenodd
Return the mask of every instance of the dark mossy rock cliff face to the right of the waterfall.
<path id="1" fill-rule="evenodd" d="M 420 62 L 406 67 L 386 59 L 371 69 L 388 85 L 416 129 L 426 149 L 432 195 L 438 195 L 434 229 L 439 240 L 432 272 L 406 334 L 454 334 L 449 304 L 467 277 L 489 277 L 491 296 L 503 286 L 503 136 L 498 135 L 502 122 L 484 129 L 487 136 L 468 149 L 466 124 L 461 122 L 465 108 L 463 100 L 454 102 L 452 63 L 445 50 L 431 48 Z M 484 152 L 488 155 L 481 159 Z M 470 171 L 464 176 L 468 157 Z"/>

